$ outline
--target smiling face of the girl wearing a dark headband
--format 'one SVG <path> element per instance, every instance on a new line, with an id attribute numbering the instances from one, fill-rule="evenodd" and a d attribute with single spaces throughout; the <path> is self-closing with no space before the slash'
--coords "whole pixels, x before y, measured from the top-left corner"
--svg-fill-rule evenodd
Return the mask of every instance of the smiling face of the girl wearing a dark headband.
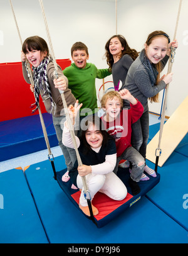
<path id="1" fill-rule="evenodd" d="M 165 57 L 167 48 L 167 38 L 165 36 L 157 36 L 152 40 L 150 45 L 145 44 L 145 53 L 151 63 L 157 64 Z"/>

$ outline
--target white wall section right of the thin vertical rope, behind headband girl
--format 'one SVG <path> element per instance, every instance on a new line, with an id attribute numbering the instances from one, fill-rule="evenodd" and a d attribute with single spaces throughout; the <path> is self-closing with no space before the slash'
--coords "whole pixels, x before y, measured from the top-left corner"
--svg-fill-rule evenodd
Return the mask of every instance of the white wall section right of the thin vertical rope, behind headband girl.
<path id="1" fill-rule="evenodd" d="M 127 38 L 131 48 L 142 50 L 147 36 L 154 30 L 165 31 L 172 40 L 179 9 L 179 0 L 132 0 L 118 2 L 118 33 Z M 173 81 L 170 83 L 167 97 L 166 116 L 174 113 L 175 109 L 188 94 L 188 1 L 182 1 L 176 50 L 172 72 Z M 164 73 L 167 72 L 167 67 Z M 163 91 L 160 92 L 160 101 Z M 161 103 L 149 104 L 150 111 L 160 113 Z M 188 111 L 188 106 L 187 106 Z"/>

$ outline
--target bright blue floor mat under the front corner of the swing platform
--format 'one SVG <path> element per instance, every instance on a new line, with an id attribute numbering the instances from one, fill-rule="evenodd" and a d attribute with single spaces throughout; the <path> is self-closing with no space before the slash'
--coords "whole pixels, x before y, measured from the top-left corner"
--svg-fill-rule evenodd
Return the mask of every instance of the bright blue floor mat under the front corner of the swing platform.
<path id="1" fill-rule="evenodd" d="M 55 167 L 57 172 L 65 168 L 63 157 L 55 158 Z M 51 243 L 187 242 L 187 231 L 145 197 L 108 225 L 97 228 L 53 179 L 49 161 L 31 165 L 25 174 Z"/>

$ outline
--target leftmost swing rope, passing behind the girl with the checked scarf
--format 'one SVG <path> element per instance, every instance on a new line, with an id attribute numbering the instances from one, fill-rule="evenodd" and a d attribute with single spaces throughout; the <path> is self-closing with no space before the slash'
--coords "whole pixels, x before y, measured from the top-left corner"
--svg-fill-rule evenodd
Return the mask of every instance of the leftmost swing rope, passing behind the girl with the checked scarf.
<path id="1" fill-rule="evenodd" d="M 11 2 L 11 0 L 9 0 L 10 4 L 11 4 L 11 9 L 13 11 L 13 16 L 14 16 L 14 21 L 16 23 L 16 28 L 17 28 L 17 31 L 18 31 L 18 35 L 19 35 L 19 40 L 21 42 L 21 45 L 23 45 L 23 42 L 21 40 L 21 35 L 20 35 L 20 32 L 19 32 L 19 27 L 18 27 L 18 23 L 17 23 L 17 20 L 16 20 L 16 15 L 14 13 L 14 8 L 13 8 L 13 4 Z M 32 70 L 31 70 L 31 67 L 30 67 L 30 64 L 28 62 L 28 59 L 26 58 L 26 70 L 28 72 L 28 77 L 29 77 L 29 81 L 31 83 L 32 86 L 34 86 L 34 81 L 33 81 L 33 74 L 32 74 Z M 51 165 L 53 167 L 53 172 L 55 174 L 55 179 L 56 179 L 56 172 L 55 172 L 55 165 L 53 164 L 53 154 L 51 153 L 51 148 L 50 148 L 50 143 L 49 143 L 49 140 L 48 140 L 48 135 L 47 135 L 47 132 L 46 132 L 46 126 L 44 125 L 44 120 L 43 120 L 43 114 L 41 113 L 41 108 L 40 106 L 38 107 L 38 111 L 39 111 L 39 118 L 41 120 L 41 126 L 42 126 L 42 129 L 43 129 L 43 134 L 44 134 L 44 140 L 46 142 L 46 147 L 48 148 L 48 159 L 50 160 L 51 162 Z M 50 158 L 50 156 L 52 156 L 52 160 Z"/>

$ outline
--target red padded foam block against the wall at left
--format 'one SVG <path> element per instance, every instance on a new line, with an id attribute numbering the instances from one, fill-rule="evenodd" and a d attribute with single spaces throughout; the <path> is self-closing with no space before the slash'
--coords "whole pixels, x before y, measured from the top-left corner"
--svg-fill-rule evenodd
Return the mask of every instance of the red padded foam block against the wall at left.
<path id="1" fill-rule="evenodd" d="M 69 58 L 56 61 L 62 70 L 71 64 Z M 21 62 L 1 63 L 0 74 L 2 74 L 0 77 L 1 95 L 4 95 L 1 97 L 0 121 L 29 116 L 31 114 L 30 106 L 35 99 L 29 84 L 24 81 Z M 43 102 L 40 106 L 41 112 L 46 113 Z"/>

